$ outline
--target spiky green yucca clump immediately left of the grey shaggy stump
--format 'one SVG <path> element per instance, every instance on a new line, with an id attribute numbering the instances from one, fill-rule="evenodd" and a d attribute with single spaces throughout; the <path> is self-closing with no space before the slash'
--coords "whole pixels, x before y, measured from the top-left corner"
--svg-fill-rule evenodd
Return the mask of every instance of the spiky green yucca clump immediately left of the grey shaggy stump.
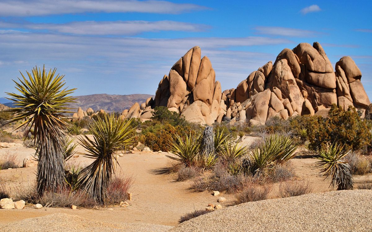
<path id="1" fill-rule="evenodd" d="M 180 161 L 186 167 L 200 166 L 201 135 L 185 136 L 185 140 L 178 134 L 170 141 L 169 151 L 177 157 L 167 156 L 172 160 Z"/>

